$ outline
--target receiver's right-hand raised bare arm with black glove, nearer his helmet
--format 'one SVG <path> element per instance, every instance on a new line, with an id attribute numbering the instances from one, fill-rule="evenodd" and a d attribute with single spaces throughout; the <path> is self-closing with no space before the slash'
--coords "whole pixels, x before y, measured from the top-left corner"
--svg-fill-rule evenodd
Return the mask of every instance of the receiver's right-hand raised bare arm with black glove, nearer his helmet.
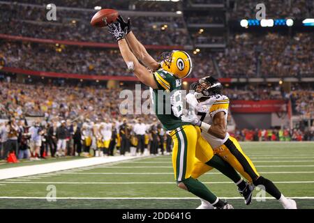
<path id="1" fill-rule="evenodd" d="M 137 40 L 134 33 L 130 30 L 130 18 L 128 18 L 128 22 L 125 22 L 124 18 L 119 15 L 117 21 L 119 22 L 121 29 L 124 30 L 124 33 L 126 33 L 126 40 L 136 58 L 142 61 L 142 63 L 144 63 L 144 65 L 149 69 L 153 71 L 157 70 L 159 68 L 158 62 L 155 61 L 151 55 L 149 55 L 142 43 Z"/>

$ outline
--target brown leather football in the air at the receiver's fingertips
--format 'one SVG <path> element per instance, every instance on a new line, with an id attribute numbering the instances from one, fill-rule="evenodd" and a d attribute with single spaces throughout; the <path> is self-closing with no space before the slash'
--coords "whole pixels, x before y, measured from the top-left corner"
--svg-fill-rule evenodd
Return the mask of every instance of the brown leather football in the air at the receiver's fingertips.
<path id="1" fill-rule="evenodd" d="M 117 10 L 105 8 L 99 10 L 92 18 L 91 25 L 96 27 L 107 26 L 117 20 L 119 13 Z"/>

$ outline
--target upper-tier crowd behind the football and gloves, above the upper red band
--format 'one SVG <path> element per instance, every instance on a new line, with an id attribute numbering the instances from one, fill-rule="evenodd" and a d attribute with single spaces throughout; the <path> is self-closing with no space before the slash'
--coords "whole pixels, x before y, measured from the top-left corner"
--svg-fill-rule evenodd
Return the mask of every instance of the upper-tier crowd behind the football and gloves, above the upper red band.
<path id="1" fill-rule="evenodd" d="M 47 10 L 43 6 L 1 4 L 0 17 L 3 21 L 0 24 L 1 33 L 32 38 L 115 43 L 112 36 L 106 35 L 104 29 L 96 29 L 89 24 L 95 12 L 57 10 L 57 21 L 47 21 L 46 13 Z M 38 29 L 38 25 L 41 29 Z M 167 27 L 161 29 L 164 25 Z M 189 39 L 185 37 L 188 35 L 184 29 L 183 17 L 132 16 L 132 26 L 144 44 L 190 44 Z"/>

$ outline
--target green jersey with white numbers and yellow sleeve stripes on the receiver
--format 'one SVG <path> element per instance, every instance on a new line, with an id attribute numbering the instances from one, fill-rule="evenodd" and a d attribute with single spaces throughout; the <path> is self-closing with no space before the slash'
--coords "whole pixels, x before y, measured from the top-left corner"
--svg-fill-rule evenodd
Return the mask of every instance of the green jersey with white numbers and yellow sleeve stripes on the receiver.
<path id="1" fill-rule="evenodd" d="M 181 121 L 183 101 L 181 96 L 181 79 L 170 72 L 160 69 L 154 72 L 158 89 L 151 89 L 154 111 L 166 130 L 174 130 L 187 125 Z"/>

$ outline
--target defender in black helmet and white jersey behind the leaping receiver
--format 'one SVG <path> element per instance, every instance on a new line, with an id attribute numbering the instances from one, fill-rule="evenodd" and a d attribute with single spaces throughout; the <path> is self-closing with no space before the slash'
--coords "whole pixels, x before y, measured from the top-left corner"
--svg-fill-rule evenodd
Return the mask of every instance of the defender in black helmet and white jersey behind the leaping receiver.
<path id="1" fill-rule="evenodd" d="M 188 93 L 186 100 L 194 109 L 187 116 L 182 116 L 182 121 L 200 126 L 202 137 L 206 139 L 215 153 L 237 169 L 253 185 L 262 186 L 271 196 L 275 197 L 285 209 L 296 209 L 297 204 L 292 199 L 287 199 L 278 188 L 256 171 L 254 164 L 242 151 L 237 139 L 230 137 L 227 132 L 227 112 L 229 99 L 221 95 L 222 86 L 214 77 L 204 77 L 191 85 L 194 93 Z M 199 176 L 209 171 L 211 167 L 202 162 L 195 164 L 192 177 Z M 241 191 L 240 191 L 241 193 Z M 246 199 L 246 204 L 251 202 L 251 197 Z M 202 200 L 202 206 L 210 207 L 210 204 Z"/>

